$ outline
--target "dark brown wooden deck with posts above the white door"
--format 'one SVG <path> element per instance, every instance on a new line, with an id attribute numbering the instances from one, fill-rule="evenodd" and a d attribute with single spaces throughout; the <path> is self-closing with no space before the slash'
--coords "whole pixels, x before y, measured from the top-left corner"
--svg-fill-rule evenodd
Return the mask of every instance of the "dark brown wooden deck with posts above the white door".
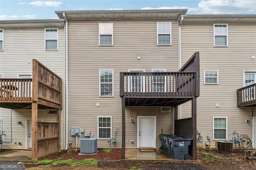
<path id="1" fill-rule="evenodd" d="M 199 52 L 176 72 L 121 72 L 122 159 L 125 158 L 125 107 L 174 107 L 174 134 L 193 138 L 190 153 L 196 159 L 196 97 L 200 89 Z M 192 101 L 188 119 L 178 119 L 178 105 Z M 171 121 L 171 120 L 170 120 Z"/>

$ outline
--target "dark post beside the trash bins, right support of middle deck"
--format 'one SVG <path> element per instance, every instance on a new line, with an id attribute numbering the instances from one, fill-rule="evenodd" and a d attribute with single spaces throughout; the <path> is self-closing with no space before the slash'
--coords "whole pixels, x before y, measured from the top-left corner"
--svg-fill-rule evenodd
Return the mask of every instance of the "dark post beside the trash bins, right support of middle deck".
<path id="1" fill-rule="evenodd" d="M 192 158 L 197 159 L 196 154 L 196 98 L 192 99 Z"/>

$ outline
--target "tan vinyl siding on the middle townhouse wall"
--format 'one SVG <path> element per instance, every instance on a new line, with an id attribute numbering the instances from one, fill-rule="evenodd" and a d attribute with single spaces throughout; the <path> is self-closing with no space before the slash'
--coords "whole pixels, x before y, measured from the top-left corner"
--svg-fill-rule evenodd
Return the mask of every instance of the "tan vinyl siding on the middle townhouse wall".
<path id="1" fill-rule="evenodd" d="M 80 127 L 85 129 L 85 131 L 90 131 L 94 137 L 97 137 L 97 116 L 112 116 L 112 137 L 114 137 L 116 128 L 118 128 L 117 147 L 121 148 L 122 108 L 119 96 L 120 72 L 128 71 L 128 69 L 145 69 L 145 71 L 166 69 L 166 71 L 177 71 L 177 20 L 163 21 L 172 22 L 172 45 L 168 46 L 157 46 L 156 44 L 156 23 L 162 22 L 159 20 L 104 21 L 113 22 L 114 41 L 113 46 L 99 46 L 99 22 L 102 22 L 102 20 L 68 22 L 68 131 L 70 135 L 71 127 Z M 138 60 L 137 56 L 140 56 L 141 59 Z M 114 97 L 99 97 L 100 69 L 114 70 Z M 100 103 L 100 107 L 96 107 L 96 103 Z M 127 114 L 126 119 L 128 121 Z M 129 123 L 127 122 L 127 125 Z M 135 128 L 134 132 L 136 132 Z M 129 136 L 129 138 L 129 140 L 136 140 L 132 136 Z M 157 138 L 159 137 L 157 136 Z M 69 136 L 68 140 L 75 141 L 75 137 Z M 107 140 L 98 140 L 99 148 L 109 146 Z M 127 146 L 137 147 L 136 144 L 132 146 L 127 144 Z"/>

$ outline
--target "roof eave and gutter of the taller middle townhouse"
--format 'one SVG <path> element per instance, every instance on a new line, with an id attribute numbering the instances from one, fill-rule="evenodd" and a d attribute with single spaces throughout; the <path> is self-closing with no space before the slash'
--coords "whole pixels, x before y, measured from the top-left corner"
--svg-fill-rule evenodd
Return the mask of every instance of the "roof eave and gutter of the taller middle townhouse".
<path id="1" fill-rule="evenodd" d="M 65 13 L 67 20 L 154 20 L 178 19 L 187 9 L 172 10 L 83 10 L 55 11 L 59 18 Z"/>

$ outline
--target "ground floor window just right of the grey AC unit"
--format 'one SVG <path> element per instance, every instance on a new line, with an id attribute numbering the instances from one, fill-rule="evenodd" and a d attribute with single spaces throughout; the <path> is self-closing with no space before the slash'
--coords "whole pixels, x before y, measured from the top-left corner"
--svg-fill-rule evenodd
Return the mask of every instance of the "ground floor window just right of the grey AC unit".
<path id="1" fill-rule="evenodd" d="M 112 117 L 98 116 L 98 138 L 108 139 L 112 136 Z"/>

